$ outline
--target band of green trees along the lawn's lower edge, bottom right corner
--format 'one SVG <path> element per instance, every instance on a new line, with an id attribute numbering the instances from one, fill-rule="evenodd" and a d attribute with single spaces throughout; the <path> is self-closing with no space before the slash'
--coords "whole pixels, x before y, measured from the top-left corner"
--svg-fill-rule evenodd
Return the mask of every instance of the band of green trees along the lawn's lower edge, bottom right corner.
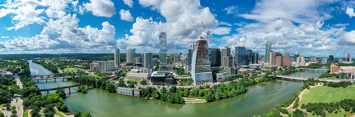
<path id="1" fill-rule="evenodd" d="M 307 103 L 302 104 L 300 108 L 306 109 L 307 112 L 314 112 L 317 116 L 326 117 L 327 113 L 333 113 L 335 110 L 345 109 L 345 111 L 355 113 L 355 100 L 343 99 L 340 102 L 330 103 Z M 353 110 L 351 110 L 353 108 Z M 337 113 L 337 111 L 335 111 Z"/>

